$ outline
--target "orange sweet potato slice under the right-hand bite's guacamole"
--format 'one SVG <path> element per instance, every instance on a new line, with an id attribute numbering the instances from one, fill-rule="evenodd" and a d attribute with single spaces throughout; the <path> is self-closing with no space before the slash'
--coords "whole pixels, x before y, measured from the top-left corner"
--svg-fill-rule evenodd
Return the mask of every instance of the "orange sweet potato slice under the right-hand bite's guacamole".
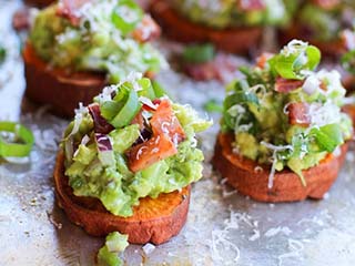
<path id="1" fill-rule="evenodd" d="M 220 133 L 213 157 L 214 167 L 220 171 L 229 184 L 239 192 L 260 202 L 295 202 L 322 198 L 337 177 L 343 165 L 347 144 L 342 146 L 338 157 L 327 156 L 317 166 L 303 171 L 307 185 L 303 186 L 300 177 L 288 171 L 276 172 L 274 185 L 267 188 L 270 166 L 256 168 L 257 164 L 232 151 L 233 135 Z"/>

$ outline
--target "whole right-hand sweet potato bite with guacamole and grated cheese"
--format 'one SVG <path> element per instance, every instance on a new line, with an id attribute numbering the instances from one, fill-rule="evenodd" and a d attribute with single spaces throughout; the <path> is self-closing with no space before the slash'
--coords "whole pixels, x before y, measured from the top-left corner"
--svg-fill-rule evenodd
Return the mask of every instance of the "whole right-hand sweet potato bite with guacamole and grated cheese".
<path id="1" fill-rule="evenodd" d="M 263 202 L 322 198 L 352 137 L 341 111 L 337 71 L 314 71 L 317 48 L 293 40 L 263 54 L 227 88 L 214 166 L 241 193 Z"/>

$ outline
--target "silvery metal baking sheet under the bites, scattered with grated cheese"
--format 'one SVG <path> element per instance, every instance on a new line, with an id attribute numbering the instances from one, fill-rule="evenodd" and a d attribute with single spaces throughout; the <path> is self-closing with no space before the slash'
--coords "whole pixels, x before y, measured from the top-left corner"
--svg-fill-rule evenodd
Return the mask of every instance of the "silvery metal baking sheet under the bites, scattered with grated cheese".
<path id="1" fill-rule="evenodd" d="M 103 238 L 88 236 L 58 208 L 52 171 L 68 121 L 21 101 L 24 79 L 11 14 L 21 2 L 0 0 L 0 40 L 9 48 L 0 69 L 0 120 L 21 121 L 36 134 L 28 162 L 0 162 L 0 265 L 93 265 Z M 192 82 L 164 71 L 159 80 L 171 95 L 203 113 L 222 101 L 217 82 Z M 338 180 L 323 201 L 262 204 L 229 187 L 209 161 L 215 125 L 200 135 L 204 177 L 193 185 L 189 219 L 181 234 L 145 254 L 124 252 L 126 265 L 355 265 L 355 154 L 347 154 Z"/>

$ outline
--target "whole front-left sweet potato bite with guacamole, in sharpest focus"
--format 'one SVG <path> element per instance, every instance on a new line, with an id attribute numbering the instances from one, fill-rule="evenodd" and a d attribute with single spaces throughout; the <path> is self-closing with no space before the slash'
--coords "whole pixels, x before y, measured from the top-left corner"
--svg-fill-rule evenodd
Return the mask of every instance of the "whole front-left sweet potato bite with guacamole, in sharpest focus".
<path id="1" fill-rule="evenodd" d="M 54 171 L 59 205 L 90 235 L 160 244 L 186 221 L 202 176 L 195 133 L 211 122 L 131 75 L 75 111 Z"/>

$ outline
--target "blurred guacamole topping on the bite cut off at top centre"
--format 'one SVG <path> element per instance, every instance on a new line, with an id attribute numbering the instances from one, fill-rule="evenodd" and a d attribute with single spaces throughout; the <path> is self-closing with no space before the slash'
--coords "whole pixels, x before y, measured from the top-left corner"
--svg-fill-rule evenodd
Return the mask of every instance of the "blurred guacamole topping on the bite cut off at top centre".
<path id="1" fill-rule="evenodd" d="M 173 6 L 190 20 L 217 29 L 282 24 L 288 19 L 282 0 L 174 0 Z"/>

